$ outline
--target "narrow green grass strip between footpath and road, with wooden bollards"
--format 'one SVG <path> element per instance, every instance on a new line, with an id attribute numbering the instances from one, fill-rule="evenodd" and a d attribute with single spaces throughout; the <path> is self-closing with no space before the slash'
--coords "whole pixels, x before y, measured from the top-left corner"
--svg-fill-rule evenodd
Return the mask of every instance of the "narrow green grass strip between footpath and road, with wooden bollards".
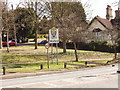
<path id="1" fill-rule="evenodd" d="M 106 63 L 108 60 L 98 60 L 95 62 L 100 62 L 100 63 Z M 55 62 L 51 63 L 50 62 L 50 68 L 48 69 L 47 63 L 35 63 L 35 64 L 20 64 L 20 65 L 3 65 L 7 67 L 6 72 L 16 72 L 16 73 L 30 73 L 30 72 L 43 72 L 43 71 L 56 71 L 56 70 L 64 70 L 64 63 L 71 63 L 71 64 L 80 64 L 80 65 L 85 65 L 85 61 L 79 61 L 79 62 L 59 62 L 57 65 Z M 40 69 L 40 65 L 43 65 L 43 69 Z M 88 64 L 88 66 L 98 66 L 96 64 Z M 11 67 L 11 68 L 8 68 Z M 79 66 L 73 66 L 73 65 L 67 65 L 66 69 L 75 69 Z M 0 70 L 2 72 L 2 70 Z"/>

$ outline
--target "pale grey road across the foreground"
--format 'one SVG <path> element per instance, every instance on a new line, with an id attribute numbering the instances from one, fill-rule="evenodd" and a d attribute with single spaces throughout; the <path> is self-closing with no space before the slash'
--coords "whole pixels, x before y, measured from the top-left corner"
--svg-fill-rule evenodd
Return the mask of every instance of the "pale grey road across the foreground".
<path id="1" fill-rule="evenodd" d="M 1 80 L 2 88 L 118 88 L 118 65 Z"/>

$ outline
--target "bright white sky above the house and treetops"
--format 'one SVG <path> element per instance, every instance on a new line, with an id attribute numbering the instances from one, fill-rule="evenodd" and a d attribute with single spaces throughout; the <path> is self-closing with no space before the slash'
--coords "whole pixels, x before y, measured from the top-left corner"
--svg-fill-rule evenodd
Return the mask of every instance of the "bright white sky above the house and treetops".
<path id="1" fill-rule="evenodd" d="M 14 7 L 20 2 L 21 0 L 8 0 L 9 4 L 14 4 Z M 24 1 L 24 0 L 22 0 Z M 110 5 L 113 10 L 113 17 L 115 17 L 115 10 L 118 9 L 118 2 L 119 0 L 80 0 L 83 4 L 87 2 L 89 7 L 85 6 L 85 11 L 88 13 L 87 19 L 92 19 L 95 16 L 100 16 L 101 18 L 106 18 L 106 7 Z"/>

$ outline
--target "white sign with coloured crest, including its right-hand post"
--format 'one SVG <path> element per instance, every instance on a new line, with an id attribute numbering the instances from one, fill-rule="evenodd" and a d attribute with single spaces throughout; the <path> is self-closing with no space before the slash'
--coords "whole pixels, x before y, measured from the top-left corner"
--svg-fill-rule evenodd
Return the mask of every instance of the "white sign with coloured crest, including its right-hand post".
<path id="1" fill-rule="evenodd" d="M 53 27 L 49 30 L 49 43 L 56 43 L 56 62 L 58 64 L 58 43 L 59 43 L 59 31 L 57 28 Z"/>

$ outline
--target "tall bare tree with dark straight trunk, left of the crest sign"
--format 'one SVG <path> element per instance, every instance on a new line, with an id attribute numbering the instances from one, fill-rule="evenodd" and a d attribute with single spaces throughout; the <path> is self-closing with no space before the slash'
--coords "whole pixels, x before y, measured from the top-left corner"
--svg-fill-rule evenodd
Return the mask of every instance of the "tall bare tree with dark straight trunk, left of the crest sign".
<path id="1" fill-rule="evenodd" d="M 49 13 L 48 2 L 44 0 L 41 0 L 41 1 L 40 0 L 36 0 L 36 1 L 27 0 L 27 2 L 24 3 L 24 6 L 29 9 L 30 15 L 34 13 L 34 16 L 32 18 L 33 18 L 33 26 L 35 26 L 35 29 L 34 29 L 35 49 L 37 49 L 37 34 L 38 34 L 39 28 L 41 28 L 39 26 L 39 23 L 41 19 L 43 18 L 43 16 Z M 31 9 L 33 9 L 34 12 Z"/>

